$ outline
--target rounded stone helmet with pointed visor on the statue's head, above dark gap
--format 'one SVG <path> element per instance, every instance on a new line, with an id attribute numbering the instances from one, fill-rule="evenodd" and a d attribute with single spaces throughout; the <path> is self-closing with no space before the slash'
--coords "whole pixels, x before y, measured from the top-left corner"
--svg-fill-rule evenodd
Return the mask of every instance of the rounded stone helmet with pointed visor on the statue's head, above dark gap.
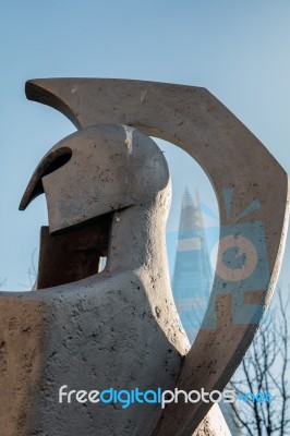
<path id="1" fill-rule="evenodd" d="M 55 145 L 36 168 L 20 209 L 45 193 L 50 233 L 169 196 L 166 159 L 145 134 L 106 124 L 83 129 Z"/>

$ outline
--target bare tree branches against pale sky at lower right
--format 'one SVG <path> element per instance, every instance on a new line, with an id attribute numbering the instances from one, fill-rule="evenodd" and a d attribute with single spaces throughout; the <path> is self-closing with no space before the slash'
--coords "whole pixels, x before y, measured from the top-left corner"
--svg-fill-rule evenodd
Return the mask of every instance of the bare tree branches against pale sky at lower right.
<path id="1" fill-rule="evenodd" d="M 231 380 L 238 398 L 245 399 L 231 403 L 237 428 L 244 435 L 290 435 L 289 304 L 290 293 L 285 301 L 279 289 L 278 306 L 271 311 L 270 320 L 262 325 Z M 251 395 L 247 398 L 250 392 L 264 393 L 261 397 L 264 400 L 257 401 Z M 271 401 L 267 393 L 271 395 Z"/>

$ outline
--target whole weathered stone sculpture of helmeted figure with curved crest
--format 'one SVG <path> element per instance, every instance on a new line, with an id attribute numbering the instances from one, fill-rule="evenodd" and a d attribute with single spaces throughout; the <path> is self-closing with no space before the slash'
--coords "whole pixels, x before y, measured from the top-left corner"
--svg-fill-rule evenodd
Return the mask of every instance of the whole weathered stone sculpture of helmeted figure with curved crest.
<path id="1" fill-rule="evenodd" d="M 58 402 L 59 388 L 222 390 L 268 306 L 288 223 L 288 179 L 206 89 L 140 81 L 29 81 L 29 99 L 77 128 L 45 156 L 21 203 L 45 192 L 37 290 L 1 293 L 0 425 L 15 435 L 192 435 L 210 403 Z M 207 172 L 220 209 L 217 274 L 189 351 L 166 262 L 172 142 Z M 235 254 L 225 264 L 225 254 Z M 108 256 L 98 272 L 100 256 Z M 210 413 L 208 414 L 210 417 Z"/>

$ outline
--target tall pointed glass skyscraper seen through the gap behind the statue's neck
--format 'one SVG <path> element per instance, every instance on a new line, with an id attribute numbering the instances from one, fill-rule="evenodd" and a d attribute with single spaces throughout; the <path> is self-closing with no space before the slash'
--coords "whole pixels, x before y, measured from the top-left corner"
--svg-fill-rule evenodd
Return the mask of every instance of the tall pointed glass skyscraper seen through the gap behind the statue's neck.
<path id="1" fill-rule="evenodd" d="M 201 327 L 213 284 L 198 193 L 185 189 L 180 213 L 172 292 L 191 343 Z"/>

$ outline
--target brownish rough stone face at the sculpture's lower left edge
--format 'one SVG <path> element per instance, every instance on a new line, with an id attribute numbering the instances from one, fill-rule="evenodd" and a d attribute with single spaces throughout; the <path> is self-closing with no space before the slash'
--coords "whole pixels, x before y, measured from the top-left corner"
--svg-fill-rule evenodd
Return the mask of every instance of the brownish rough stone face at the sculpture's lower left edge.
<path id="1" fill-rule="evenodd" d="M 46 359 L 45 307 L 1 293 L 0 319 L 0 434 L 29 435 Z"/>

